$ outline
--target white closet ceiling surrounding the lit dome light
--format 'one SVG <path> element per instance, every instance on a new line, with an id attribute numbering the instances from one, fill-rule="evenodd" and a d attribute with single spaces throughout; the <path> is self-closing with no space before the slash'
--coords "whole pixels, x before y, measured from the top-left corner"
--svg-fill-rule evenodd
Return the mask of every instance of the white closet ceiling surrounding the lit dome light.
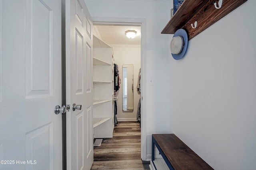
<path id="1" fill-rule="evenodd" d="M 140 45 L 140 26 L 123 26 L 123 25 L 96 25 L 101 35 L 102 41 L 107 44 L 118 45 Z M 136 36 L 129 39 L 125 35 L 125 31 L 135 30 Z"/>

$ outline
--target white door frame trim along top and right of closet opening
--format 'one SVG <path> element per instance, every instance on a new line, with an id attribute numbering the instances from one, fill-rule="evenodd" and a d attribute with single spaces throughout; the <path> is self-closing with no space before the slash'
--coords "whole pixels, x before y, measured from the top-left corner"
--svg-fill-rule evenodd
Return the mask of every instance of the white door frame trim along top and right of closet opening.
<path id="1" fill-rule="evenodd" d="M 143 18 L 105 18 L 105 17 L 92 17 L 93 24 L 104 25 L 140 25 L 141 27 L 141 159 L 147 160 L 146 156 L 146 19 Z M 145 114 L 143 114 L 145 113 Z M 143 145 L 144 144 L 144 145 Z"/>

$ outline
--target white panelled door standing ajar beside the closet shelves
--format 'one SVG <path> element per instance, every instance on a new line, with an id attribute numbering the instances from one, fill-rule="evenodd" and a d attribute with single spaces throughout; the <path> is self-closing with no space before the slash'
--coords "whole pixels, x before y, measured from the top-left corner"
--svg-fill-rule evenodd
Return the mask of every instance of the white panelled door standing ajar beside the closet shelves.
<path id="1" fill-rule="evenodd" d="M 93 163 L 92 20 L 84 0 L 66 0 L 67 170 Z M 73 111 L 72 105 L 82 109 Z"/>

